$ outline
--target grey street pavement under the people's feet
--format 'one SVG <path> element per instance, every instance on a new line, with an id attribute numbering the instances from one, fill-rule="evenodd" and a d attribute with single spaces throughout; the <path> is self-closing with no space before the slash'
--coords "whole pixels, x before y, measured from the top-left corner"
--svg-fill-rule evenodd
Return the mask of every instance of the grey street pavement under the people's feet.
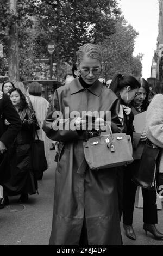
<path id="1" fill-rule="evenodd" d="M 51 151 L 51 166 L 39 181 L 39 195 L 29 196 L 29 202 L 18 204 L 19 196 L 9 197 L 10 204 L 0 210 L 0 245 L 48 245 L 52 227 L 54 198 L 55 151 Z M 128 239 L 121 223 L 123 245 L 163 245 L 143 230 L 143 209 L 134 209 L 133 228 L 136 241 Z M 158 229 L 163 233 L 163 210 L 158 210 Z"/>

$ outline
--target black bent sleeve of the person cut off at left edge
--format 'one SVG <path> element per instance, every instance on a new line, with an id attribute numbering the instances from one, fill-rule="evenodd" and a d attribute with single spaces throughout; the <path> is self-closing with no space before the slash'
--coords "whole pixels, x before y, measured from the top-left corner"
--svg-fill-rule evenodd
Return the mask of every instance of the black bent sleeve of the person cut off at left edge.
<path id="1" fill-rule="evenodd" d="M 8 148 L 21 129 L 21 119 L 8 95 L 3 94 L 2 108 L 3 116 L 10 124 L 8 129 L 2 134 L 0 141 L 2 141 Z"/>

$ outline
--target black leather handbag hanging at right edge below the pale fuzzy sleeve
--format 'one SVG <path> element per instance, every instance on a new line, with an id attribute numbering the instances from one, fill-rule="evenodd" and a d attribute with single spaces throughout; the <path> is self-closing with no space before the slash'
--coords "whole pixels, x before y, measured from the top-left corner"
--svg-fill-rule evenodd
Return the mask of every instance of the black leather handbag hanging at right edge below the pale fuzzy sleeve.
<path id="1" fill-rule="evenodd" d="M 145 144 L 140 160 L 140 167 L 131 179 L 137 186 L 154 190 L 156 184 L 156 175 L 160 160 L 160 148 L 152 144 L 149 139 Z"/>

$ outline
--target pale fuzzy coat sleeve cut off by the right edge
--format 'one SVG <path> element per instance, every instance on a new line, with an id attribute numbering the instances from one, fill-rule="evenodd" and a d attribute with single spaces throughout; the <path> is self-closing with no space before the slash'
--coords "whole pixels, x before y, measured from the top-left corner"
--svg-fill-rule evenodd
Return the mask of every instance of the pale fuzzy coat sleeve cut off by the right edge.
<path id="1" fill-rule="evenodd" d="M 157 94 L 149 104 L 146 115 L 147 138 L 163 148 L 163 95 Z"/>

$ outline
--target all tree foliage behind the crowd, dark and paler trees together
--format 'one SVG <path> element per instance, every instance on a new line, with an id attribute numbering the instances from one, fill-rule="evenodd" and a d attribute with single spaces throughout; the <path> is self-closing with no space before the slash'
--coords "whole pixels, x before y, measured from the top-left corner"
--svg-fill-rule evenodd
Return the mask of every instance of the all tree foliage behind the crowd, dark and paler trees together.
<path id="1" fill-rule="evenodd" d="M 21 79 L 36 78 L 35 57 L 49 57 L 47 45 L 55 43 L 53 61 L 64 77 L 66 65 L 76 61 L 78 48 L 93 42 L 101 45 L 103 76 L 116 72 L 140 74 L 140 56 L 133 57 L 137 32 L 120 19 L 117 0 L 17 0 L 17 14 L 10 13 L 8 1 L 0 0 L 0 37 L 7 65 L 11 23 L 18 24 Z M 6 57 L 6 58 L 5 58 Z M 67 64 L 65 64 L 67 62 Z M 66 71 L 65 71 L 66 72 Z"/>

